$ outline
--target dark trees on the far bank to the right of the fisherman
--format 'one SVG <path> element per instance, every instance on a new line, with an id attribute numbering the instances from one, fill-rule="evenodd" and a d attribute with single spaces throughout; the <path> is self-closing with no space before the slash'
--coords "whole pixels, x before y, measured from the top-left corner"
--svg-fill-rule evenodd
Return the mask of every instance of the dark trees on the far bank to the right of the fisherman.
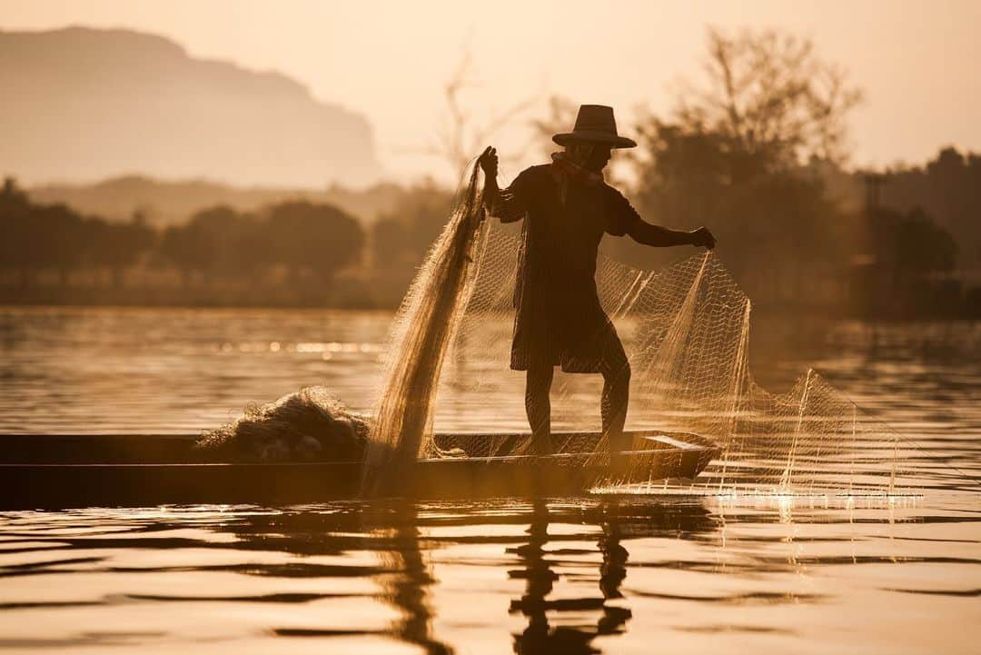
<path id="1" fill-rule="evenodd" d="M 981 289 L 952 276 L 958 255 L 981 267 L 981 158 L 946 149 L 925 168 L 848 172 L 861 93 L 793 34 L 710 29 L 703 63 L 673 109 L 634 126 L 623 185 L 645 220 L 711 227 L 757 309 L 981 314 Z M 550 107 L 542 142 L 577 105 Z M 638 266 L 677 256 L 626 239 L 607 251 Z"/>

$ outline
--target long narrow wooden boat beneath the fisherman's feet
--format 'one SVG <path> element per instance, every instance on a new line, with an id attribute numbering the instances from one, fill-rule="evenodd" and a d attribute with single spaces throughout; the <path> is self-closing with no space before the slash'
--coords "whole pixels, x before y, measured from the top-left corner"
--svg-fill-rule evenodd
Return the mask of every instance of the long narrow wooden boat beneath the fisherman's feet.
<path id="1" fill-rule="evenodd" d="M 632 432 L 629 479 L 695 478 L 718 450 L 695 434 Z M 596 432 L 556 433 L 560 454 L 500 454 L 527 434 L 438 434 L 442 449 L 467 457 L 420 460 L 407 496 L 480 497 L 567 494 L 607 479 L 593 458 Z M 5 508 L 160 503 L 298 503 L 350 497 L 360 462 L 237 463 L 209 461 L 195 435 L 5 435 L 0 506 Z M 506 448 L 502 444 L 507 444 Z M 492 454 L 497 453 L 497 454 Z"/>

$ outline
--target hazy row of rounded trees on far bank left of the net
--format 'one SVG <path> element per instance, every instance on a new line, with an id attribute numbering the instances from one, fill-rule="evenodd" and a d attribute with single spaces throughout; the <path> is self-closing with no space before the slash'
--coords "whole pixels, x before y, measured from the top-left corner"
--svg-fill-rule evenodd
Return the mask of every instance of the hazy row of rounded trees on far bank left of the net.
<path id="1" fill-rule="evenodd" d="M 191 290 L 204 303 L 223 304 L 222 294 L 229 293 L 257 304 L 330 303 L 340 286 L 336 278 L 347 275 L 343 297 L 390 306 L 439 234 L 451 200 L 433 184 L 408 189 L 402 198 L 397 212 L 382 214 L 370 227 L 334 205 L 306 200 L 254 212 L 217 205 L 182 224 L 155 227 L 139 212 L 114 222 L 61 203 L 35 203 L 7 178 L 0 190 L 0 272 L 8 297 L 28 302 L 84 300 L 93 295 L 85 289 L 128 286 L 138 299 L 138 287 L 170 283 L 173 292 L 163 302 L 180 303 L 181 293 Z M 128 275 L 136 281 L 127 284 Z M 235 295 L 235 287 L 242 293 Z"/>

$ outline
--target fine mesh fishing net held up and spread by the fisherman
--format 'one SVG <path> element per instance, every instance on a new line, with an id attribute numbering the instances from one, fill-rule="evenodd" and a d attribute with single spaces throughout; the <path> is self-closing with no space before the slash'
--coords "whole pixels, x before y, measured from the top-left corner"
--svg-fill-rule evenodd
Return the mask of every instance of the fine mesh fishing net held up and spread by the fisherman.
<path id="1" fill-rule="evenodd" d="M 514 456 L 516 464 L 534 465 L 517 456 L 516 433 L 528 431 L 525 374 L 509 368 L 521 227 L 483 218 L 474 170 L 392 327 L 387 381 L 369 436 L 369 487 L 397 479 L 380 471 L 404 471 L 421 458 Z M 752 305 L 711 253 L 655 270 L 600 256 L 596 285 L 632 370 L 632 455 L 625 468 L 609 467 L 603 487 L 664 483 L 663 470 L 652 465 L 663 457 L 652 450 L 651 433 L 714 444 L 715 457 L 694 483 L 712 492 L 906 487 L 903 440 L 817 373 L 805 372 L 787 393 L 756 383 L 749 371 Z M 598 426 L 600 385 L 599 376 L 555 378 L 552 446 L 562 457 L 554 461 L 610 464 L 609 439 Z M 481 434 L 484 426 L 468 424 L 489 415 L 504 429 Z"/>

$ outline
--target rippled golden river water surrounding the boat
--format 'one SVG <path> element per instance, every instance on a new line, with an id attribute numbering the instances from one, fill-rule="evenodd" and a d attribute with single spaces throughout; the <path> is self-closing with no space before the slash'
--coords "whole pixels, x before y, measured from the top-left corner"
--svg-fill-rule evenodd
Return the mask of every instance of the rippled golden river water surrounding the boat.
<path id="1" fill-rule="evenodd" d="M 313 383 L 367 410 L 389 318 L 0 309 L 0 433 L 196 431 Z M 978 652 L 981 325 L 754 330 L 764 385 L 813 366 L 915 442 L 922 496 L 4 513 L 0 649 Z"/>

